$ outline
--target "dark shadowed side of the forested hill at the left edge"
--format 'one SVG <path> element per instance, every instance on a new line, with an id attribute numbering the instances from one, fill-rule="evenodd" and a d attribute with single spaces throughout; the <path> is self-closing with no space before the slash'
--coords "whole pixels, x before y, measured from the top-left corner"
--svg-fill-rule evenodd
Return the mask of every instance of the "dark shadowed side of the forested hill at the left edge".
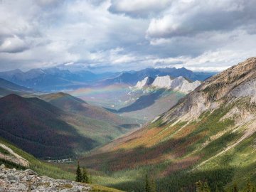
<path id="1" fill-rule="evenodd" d="M 64 121 L 65 112 L 37 98 L 0 99 L 0 135 L 24 151 L 45 158 L 74 155 L 96 143 Z"/>

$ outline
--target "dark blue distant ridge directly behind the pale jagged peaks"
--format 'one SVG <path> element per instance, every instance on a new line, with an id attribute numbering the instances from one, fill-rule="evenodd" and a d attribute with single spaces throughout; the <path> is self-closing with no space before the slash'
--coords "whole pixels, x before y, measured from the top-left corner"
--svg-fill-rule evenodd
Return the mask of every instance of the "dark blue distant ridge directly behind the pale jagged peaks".
<path id="1" fill-rule="evenodd" d="M 131 71 L 119 74 L 116 78 L 103 80 L 102 85 L 112 85 L 115 83 L 124 83 L 128 85 L 136 85 L 137 82 L 144 80 L 146 77 L 156 78 L 157 76 L 169 75 L 173 78 L 183 76 L 189 80 L 205 80 L 215 73 L 193 73 L 186 68 L 146 68 L 139 71 Z"/>

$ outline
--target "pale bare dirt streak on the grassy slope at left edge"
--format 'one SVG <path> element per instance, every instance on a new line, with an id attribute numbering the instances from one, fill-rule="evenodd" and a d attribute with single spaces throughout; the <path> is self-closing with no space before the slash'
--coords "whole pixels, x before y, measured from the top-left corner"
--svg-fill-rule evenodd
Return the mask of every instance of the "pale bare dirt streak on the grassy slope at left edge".
<path id="1" fill-rule="evenodd" d="M 21 166 L 26 166 L 26 167 L 29 166 L 29 162 L 26 159 L 24 159 L 22 156 L 19 156 L 18 154 L 16 154 L 11 148 L 1 143 L 0 143 L 0 146 L 1 148 L 6 149 L 6 151 L 8 151 L 12 155 L 10 156 L 5 154 L 0 154 L 1 159 L 14 162 L 15 164 L 19 164 Z"/>

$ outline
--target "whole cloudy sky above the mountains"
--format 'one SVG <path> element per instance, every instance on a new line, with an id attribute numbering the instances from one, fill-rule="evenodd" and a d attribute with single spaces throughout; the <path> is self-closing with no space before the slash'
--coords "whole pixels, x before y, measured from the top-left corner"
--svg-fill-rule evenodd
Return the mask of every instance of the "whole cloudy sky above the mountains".
<path id="1" fill-rule="evenodd" d="M 255 0 L 0 0 L 0 71 L 221 71 L 256 56 Z"/>

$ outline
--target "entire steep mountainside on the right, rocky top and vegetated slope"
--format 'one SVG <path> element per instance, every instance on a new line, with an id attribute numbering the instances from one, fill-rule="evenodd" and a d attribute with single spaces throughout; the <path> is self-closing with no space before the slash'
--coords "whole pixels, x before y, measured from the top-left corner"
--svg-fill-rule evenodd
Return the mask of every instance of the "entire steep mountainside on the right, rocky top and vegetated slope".
<path id="1" fill-rule="evenodd" d="M 250 58 L 208 78 L 168 112 L 82 162 L 101 170 L 94 161 L 104 156 L 105 168 L 123 176 L 127 170 L 154 170 L 159 191 L 195 191 L 199 180 L 212 191 L 233 183 L 242 189 L 247 178 L 256 182 L 255 81 L 256 58 Z M 127 183 L 139 191 L 140 179 Z"/>

